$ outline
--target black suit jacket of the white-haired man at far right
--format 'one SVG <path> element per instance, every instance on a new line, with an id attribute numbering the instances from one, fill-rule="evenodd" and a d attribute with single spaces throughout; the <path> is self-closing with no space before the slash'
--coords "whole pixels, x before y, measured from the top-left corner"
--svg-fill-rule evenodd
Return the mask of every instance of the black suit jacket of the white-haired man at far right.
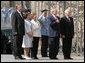
<path id="1" fill-rule="evenodd" d="M 73 18 L 70 18 L 70 22 L 66 16 L 61 18 L 60 27 L 61 27 L 61 34 L 65 35 L 66 37 L 73 37 L 74 35 L 74 23 Z"/>

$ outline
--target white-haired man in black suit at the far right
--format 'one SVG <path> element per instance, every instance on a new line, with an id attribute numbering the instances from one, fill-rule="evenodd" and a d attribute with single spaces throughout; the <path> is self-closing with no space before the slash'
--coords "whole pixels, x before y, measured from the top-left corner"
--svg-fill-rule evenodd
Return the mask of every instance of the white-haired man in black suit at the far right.
<path id="1" fill-rule="evenodd" d="M 71 54 L 71 45 L 72 38 L 74 36 L 74 24 L 73 18 L 70 17 L 70 10 L 65 10 L 65 16 L 61 18 L 60 26 L 61 26 L 61 35 L 63 38 L 63 55 L 64 59 L 72 59 L 70 57 Z"/>

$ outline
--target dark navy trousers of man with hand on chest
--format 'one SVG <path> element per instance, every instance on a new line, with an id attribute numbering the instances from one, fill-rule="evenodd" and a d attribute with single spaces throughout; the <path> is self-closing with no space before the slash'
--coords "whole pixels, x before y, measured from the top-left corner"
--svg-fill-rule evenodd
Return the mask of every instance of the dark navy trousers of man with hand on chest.
<path id="1" fill-rule="evenodd" d="M 59 50 L 59 37 L 49 37 L 49 57 L 55 59 Z"/>

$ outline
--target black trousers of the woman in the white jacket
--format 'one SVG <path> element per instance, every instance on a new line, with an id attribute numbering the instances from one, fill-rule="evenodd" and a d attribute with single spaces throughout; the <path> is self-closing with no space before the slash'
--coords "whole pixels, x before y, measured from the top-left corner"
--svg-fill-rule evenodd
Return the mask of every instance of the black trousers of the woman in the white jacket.
<path id="1" fill-rule="evenodd" d="M 30 49 L 31 57 L 37 57 L 39 37 L 33 37 L 33 47 Z"/>

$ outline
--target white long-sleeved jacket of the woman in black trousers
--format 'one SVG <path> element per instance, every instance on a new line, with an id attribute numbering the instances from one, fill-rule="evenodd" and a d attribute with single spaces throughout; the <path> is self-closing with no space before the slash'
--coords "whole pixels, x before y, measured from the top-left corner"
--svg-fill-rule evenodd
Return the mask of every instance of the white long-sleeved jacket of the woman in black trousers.
<path id="1" fill-rule="evenodd" d="M 38 21 L 31 20 L 32 32 L 34 37 L 41 37 L 40 23 Z"/>

